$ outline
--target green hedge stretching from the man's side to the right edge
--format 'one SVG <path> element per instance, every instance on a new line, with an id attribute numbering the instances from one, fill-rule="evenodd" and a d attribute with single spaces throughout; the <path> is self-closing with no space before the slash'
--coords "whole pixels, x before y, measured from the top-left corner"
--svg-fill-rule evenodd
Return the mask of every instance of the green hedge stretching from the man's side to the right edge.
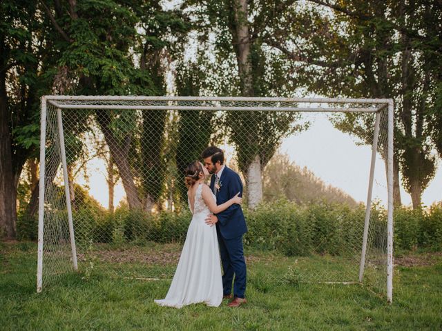
<path id="1" fill-rule="evenodd" d="M 428 212 L 396 208 L 394 248 L 396 250 L 441 250 L 441 205 Z M 349 208 L 338 203 L 296 205 L 288 201 L 262 203 L 247 212 L 249 232 L 244 243 L 260 250 L 278 250 L 287 256 L 310 254 L 359 254 L 362 243 L 365 206 Z M 374 247 L 387 244 L 386 211 L 372 205 L 369 240 Z"/>

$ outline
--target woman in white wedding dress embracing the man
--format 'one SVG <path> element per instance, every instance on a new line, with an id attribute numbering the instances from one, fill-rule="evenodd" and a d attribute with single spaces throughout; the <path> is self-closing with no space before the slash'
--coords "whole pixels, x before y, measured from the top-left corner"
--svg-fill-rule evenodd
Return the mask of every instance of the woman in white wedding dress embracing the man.
<path id="1" fill-rule="evenodd" d="M 220 251 L 216 229 L 204 220 L 208 214 L 218 214 L 233 203 L 242 203 L 235 197 L 216 205 L 215 194 L 204 179 L 209 172 L 201 162 L 195 161 L 186 168 L 186 186 L 189 208 L 193 214 L 182 248 L 180 261 L 166 298 L 155 300 L 159 305 L 182 308 L 191 303 L 204 302 L 218 307 L 222 301 Z"/>

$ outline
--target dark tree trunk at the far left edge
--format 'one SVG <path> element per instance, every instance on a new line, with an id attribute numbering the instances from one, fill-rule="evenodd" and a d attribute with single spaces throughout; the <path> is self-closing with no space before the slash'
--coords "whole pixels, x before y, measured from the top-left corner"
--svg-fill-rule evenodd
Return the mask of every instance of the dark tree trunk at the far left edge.
<path id="1" fill-rule="evenodd" d="M 3 41 L 0 50 L 3 49 Z M 11 132 L 9 130 L 6 72 L 0 72 L 0 236 L 15 239 L 17 191 L 12 176 Z M 3 233 L 2 233 L 3 232 Z"/>

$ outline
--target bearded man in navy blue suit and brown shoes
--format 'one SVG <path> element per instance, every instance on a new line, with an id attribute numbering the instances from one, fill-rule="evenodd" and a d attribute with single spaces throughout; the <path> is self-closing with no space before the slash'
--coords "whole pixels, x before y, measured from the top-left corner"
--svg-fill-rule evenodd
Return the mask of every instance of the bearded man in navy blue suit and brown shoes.
<path id="1" fill-rule="evenodd" d="M 216 195 L 216 203 L 220 205 L 240 192 L 242 196 L 241 179 L 236 172 L 224 165 L 224 152 L 215 146 L 206 148 L 202 152 L 204 166 L 212 174 L 210 188 Z M 242 214 L 241 205 L 231 205 L 219 214 L 209 215 L 206 218 L 209 225 L 216 224 L 218 243 L 222 261 L 222 288 L 224 299 L 232 299 L 229 307 L 239 307 L 247 303 L 244 297 L 246 290 L 246 261 L 242 249 L 242 235 L 247 232 L 247 225 Z M 235 282 L 232 281 L 233 274 Z"/>

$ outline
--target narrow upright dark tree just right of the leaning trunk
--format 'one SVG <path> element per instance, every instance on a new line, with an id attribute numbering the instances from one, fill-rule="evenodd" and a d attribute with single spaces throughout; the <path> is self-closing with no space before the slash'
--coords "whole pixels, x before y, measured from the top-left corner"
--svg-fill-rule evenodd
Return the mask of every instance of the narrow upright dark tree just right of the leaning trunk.
<path id="1" fill-rule="evenodd" d="M 140 69 L 150 75 L 151 84 L 157 95 L 166 94 L 166 67 L 181 50 L 182 39 L 187 31 L 186 22 L 176 10 L 164 11 L 160 3 L 151 1 L 140 7 L 142 35 L 142 57 Z M 171 41 L 174 40 L 174 45 Z M 141 168 L 142 188 L 146 195 L 147 208 L 153 203 L 160 206 L 160 197 L 166 177 L 166 159 L 164 149 L 166 136 L 167 113 L 163 110 L 143 112 Z M 146 205 L 145 203 L 145 205 Z"/>

